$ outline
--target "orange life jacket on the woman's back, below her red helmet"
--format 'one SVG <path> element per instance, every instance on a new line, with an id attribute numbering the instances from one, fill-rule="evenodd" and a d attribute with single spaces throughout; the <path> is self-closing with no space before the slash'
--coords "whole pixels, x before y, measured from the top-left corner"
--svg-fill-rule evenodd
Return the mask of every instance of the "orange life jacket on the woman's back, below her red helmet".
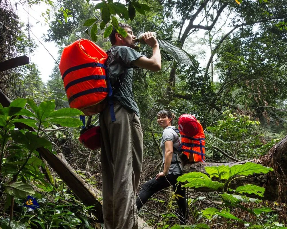
<path id="1" fill-rule="evenodd" d="M 188 137 L 181 133 L 181 145 L 178 150 L 187 156 L 189 162 L 205 162 L 205 135 L 201 124 L 198 124 L 197 135 Z"/>

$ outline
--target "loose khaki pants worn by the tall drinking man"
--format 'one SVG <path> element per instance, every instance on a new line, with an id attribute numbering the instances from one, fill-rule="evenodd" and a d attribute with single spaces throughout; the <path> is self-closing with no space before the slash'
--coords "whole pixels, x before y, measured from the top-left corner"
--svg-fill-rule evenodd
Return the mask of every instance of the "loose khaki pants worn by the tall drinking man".
<path id="1" fill-rule="evenodd" d="M 109 106 L 100 114 L 105 229 L 138 229 L 135 192 L 143 155 L 143 132 L 139 117 L 114 104 L 116 121 Z"/>

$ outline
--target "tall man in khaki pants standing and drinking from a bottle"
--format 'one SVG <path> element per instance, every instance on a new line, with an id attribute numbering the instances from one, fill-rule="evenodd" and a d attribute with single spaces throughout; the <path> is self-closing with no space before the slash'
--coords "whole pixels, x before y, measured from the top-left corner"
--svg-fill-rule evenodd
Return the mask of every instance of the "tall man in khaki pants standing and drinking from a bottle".
<path id="1" fill-rule="evenodd" d="M 150 32 L 143 37 L 153 50 L 152 57 L 147 58 L 134 50 L 131 27 L 122 23 L 119 27 L 125 29 L 127 36 L 113 28 L 106 62 L 114 88 L 116 121 L 111 120 L 109 106 L 100 114 L 104 228 L 137 229 L 135 192 L 141 175 L 143 133 L 132 92 L 133 68 L 158 71 L 161 57 L 158 42 Z"/>

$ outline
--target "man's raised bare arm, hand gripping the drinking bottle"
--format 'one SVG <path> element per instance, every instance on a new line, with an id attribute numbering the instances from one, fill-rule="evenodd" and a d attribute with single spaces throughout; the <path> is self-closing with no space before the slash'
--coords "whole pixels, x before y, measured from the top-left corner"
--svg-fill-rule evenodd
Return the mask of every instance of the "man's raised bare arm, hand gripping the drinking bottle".
<path id="1" fill-rule="evenodd" d="M 148 44 L 152 48 L 152 57 L 147 58 L 145 56 L 142 56 L 137 60 L 132 61 L 131 64 L 139 68 L 145 68 L 157 72 L 161 69 L 161 56 L 158 42 L 150 32 L 145 33 L 143 39 L 146 44 Z"/>

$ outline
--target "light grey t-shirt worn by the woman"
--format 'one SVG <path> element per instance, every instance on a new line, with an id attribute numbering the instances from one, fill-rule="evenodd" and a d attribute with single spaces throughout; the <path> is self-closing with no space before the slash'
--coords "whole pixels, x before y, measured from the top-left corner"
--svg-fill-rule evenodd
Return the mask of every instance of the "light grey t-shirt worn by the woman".
<path id="1" fill-rule="evenodd" d="M 181 142 L 180 142 L 180 138 L 178 136 L 178 134 L 175 132 L 174 126 L 169 126 L 166 127 L 162 133 L 162 141 L 160 143 L 160 148 L 162 149 L 162 161 L 164 163 L 165 161 L 165 142 L 166 141 L 172 141 L 173 142 L 173 155 L 172 155 L 172 162 L 176 162 L 179 161 L 179 157 L 177 156 L 177 153 L 179 153 L 178 149 Z M 176 153 L 175 153 L 176 151 Z M 173 173 L 174 175 L 177 174 L 181 174 L 181 168 L 179 166 L 179 164 L 175 163 L 175 164 L 170 164 L 170 167 L 168 169 L 168 174 Z"/>

